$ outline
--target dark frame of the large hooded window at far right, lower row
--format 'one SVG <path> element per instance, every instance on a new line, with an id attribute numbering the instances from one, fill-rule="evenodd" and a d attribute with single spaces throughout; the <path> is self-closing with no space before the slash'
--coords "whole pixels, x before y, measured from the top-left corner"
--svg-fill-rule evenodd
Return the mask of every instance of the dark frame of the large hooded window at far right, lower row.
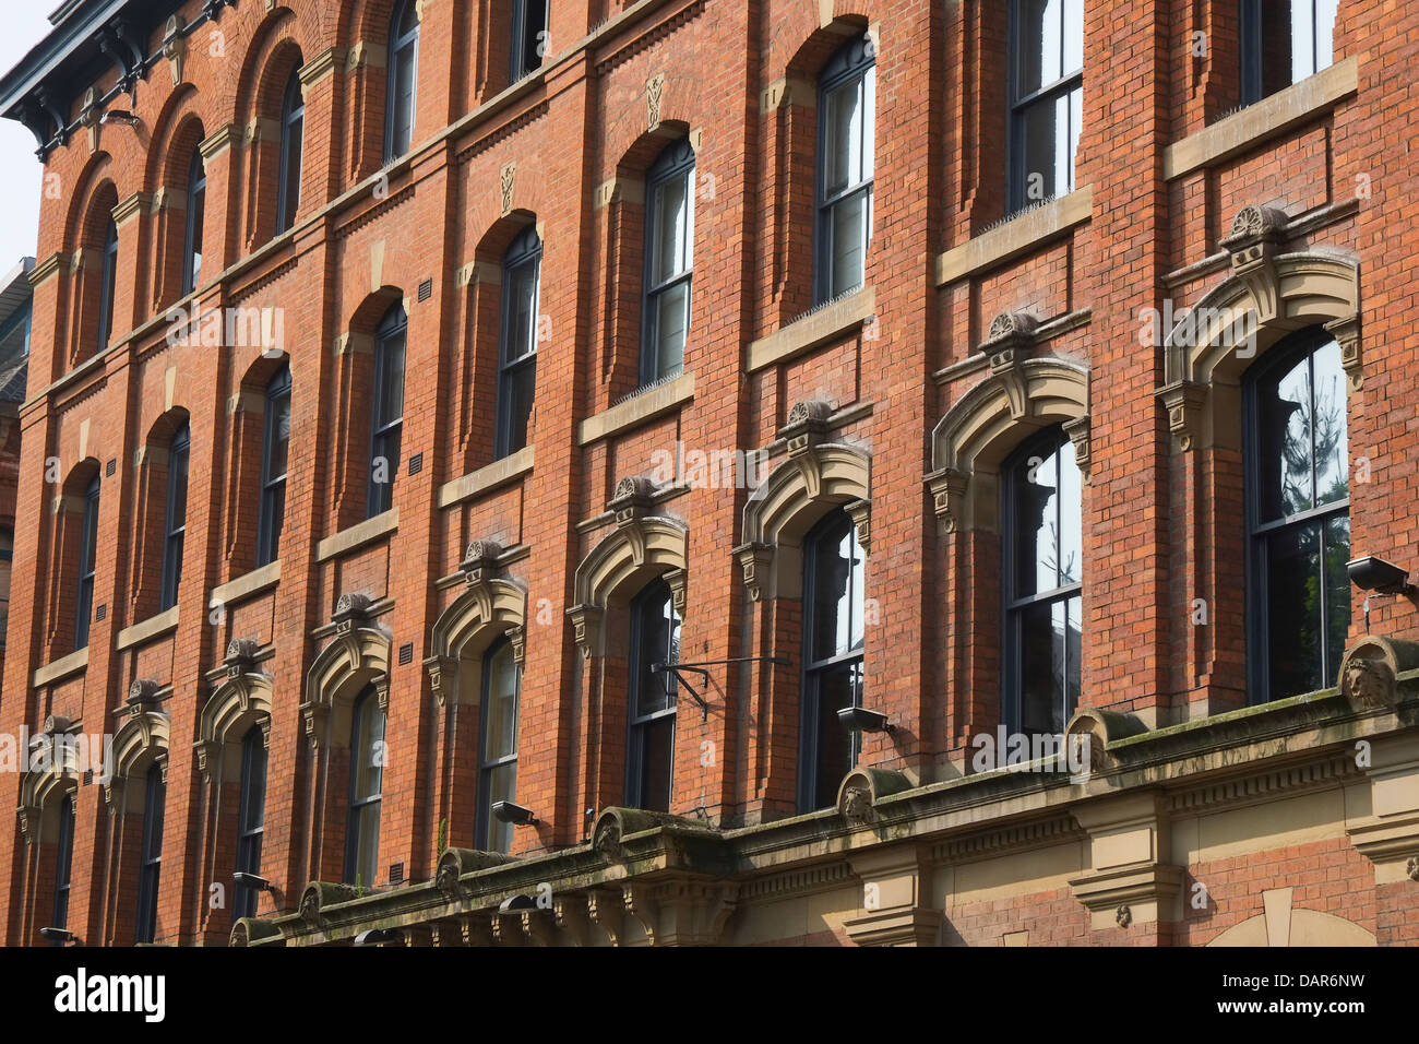
<path id="1" fill-rule="evenodd" d="M 1260 521 L 1260 482 L 1259 482 L 1259 467 L 1261 463 L 1261 447 L 1260 447 L 1260 425 L 1259 425 L 1259 386 L 1263 381 L 1274 376 L 1280 371 L 1286 371 L 1291 366 L 1300 364 L 1301 359 L 1307 361 L 1310 368 L 1310 388 L 1314 409 L 1315 399 L 1315 355 L 1325 347 L 1331 345 L 1335 338 L 1327 332 L 1323 327 L 1307 327 L 1290 334 L 1283 341 L 1276 344 L 1266 357 L 1254 362 L 1247 368 L 1242 379 L 1242 422 L 1243 422 L 1243 490 L 1244 490 L 1244 538 L 1246 551 L 1244 560 L 1244 575 L 1246 575 L 1246 641 L 1247 641 L 1247 703 L 1252 706 L 1269 703 L 1274 699 L 1286 699 L 1287 693 L 1273 696 L 1271 693 L 1271 679 L 1270 679 L 1270 592 L 1269 592 L 1269 570 L 1266 565 L 1264 547 L 1266 544 L 1286 533 L 1294 533 L 1297 530 L 1307 528 L 1310 526 L 1317 526 L 1320 530 L 1320 550 L 1318 558 L 1321 562 L 1321 582 L 1318 585 L 1320 594 L 1320 622 L 1321 622 L 1321 642 L 1320 642 L 1320 656 L 1321 656 L 1321 685 L 1327 685 L 1330 679 L 1337 676 L 1340 670 L 1340 659 L 1331 662 L 1330 656 L 1330 605 L 1327 599 L 1327 588 L 1324 582 L 1324 568 L 1325 568 L 1325 547 L 1328 528 L 1327 523 L 1344 517 L 1349 520 L 1349 496 L 1348 496 L 1348 479 L 1349 473 L 1347 470 L 1347 496 L 1341 500 L 1332 500 L 1327 504 L 1313 506 L 1304 511 L 1296 511 L 1288 516 L 1281 516 L 1269 521 Z M 1314 413 L 1313 413 L 1314 416 Z M 1349 396 L 1348 389 L 1345 395 L 1345 445 L 1347 445 L 1347 460 L 1349 452 Z M 1311 425 L 1311 491 L 1313 501 L 1315 494 L 1315 480 L 1317 480 L 1317 457 L 1315 457 L 1315 426 Z M 1347 594 L 1349 585 L 1347 582 Z M 1349 605 L 1347 602 L 1347 615 Z M 1290 693 L 1298 695 L 1298 693 Z"/>

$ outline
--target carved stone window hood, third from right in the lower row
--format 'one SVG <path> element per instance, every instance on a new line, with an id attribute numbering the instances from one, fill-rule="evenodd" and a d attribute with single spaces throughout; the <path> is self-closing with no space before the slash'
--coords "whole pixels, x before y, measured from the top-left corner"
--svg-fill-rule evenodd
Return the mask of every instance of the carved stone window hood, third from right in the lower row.
<path id="1" fill-rule="evenodd" d="M 871 551 L 871 453 L 830 442 L 833 406 L 822 399 L 796 403 L 779 437 L 788 460 L 775 467 L 744 507 L 744 544 L 735 548 L 753 601 L 796 598 L 800 544 L 813 524 L 843 507 L 857 527 L 863 553 Z"/>

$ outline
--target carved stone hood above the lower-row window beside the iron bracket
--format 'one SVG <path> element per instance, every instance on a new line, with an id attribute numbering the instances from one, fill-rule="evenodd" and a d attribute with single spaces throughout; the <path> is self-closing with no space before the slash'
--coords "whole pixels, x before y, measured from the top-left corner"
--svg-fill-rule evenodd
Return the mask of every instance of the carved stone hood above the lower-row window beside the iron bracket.
<path id="1" fill-rule="evenodd" d="M 576 604 L 566 611 L 585 659 L 602 651 L 607 605 L 622 602 L 656 577 L 670 584 L 675 612 L 685 615 L 690 528 L 657 514 L 656 487 L 646 477 L 622 479 L 606 504 L 616 528 L 576 567 Z"/>

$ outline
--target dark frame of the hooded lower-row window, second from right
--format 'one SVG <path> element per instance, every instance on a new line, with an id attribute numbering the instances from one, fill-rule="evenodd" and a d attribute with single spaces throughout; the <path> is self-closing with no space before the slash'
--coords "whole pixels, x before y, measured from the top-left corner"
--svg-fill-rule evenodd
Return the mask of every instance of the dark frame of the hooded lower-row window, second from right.
<path id="1" fill-rule="evenodd" d="M 1029 595 L 1016 597 L 1015 587 L 1017 580 L 1017 567 L 1022 557 L 1020 543 L 1029 535 L 1020 528 L 1020 520 L 1016 517 L 1016 482 L 1017 482 L 1017 467 L 1020 462 L 1029 462 L 1032 457 L 1042 459 L 1042 463 L 1050 459 L 1057 460 L 1057 453 L 1060 453 L 1066 446 L 1070 445 L 1070 437 L 1064 432 L 1063 426 L 1054 425 L 1047 428 L 1029 439 L 1026 439 L 1020 446 L 1012 452 L 1005 463 L 1000 466 L 1000 720 L 1010 733 L 1025 733 L 1025 678 L 1023 678 L 1023 662 L 1026 655 L 1025 642 L 1025 616 L 1026 614 L 1040 605 L 1054 605 L 1057 602 L 1064 602 L 1066 612 L 1069 602 L 1071 599 L 1080 599 L 1080 632 L 1083 632 L 1083 598 L 1084 598 L 1084 562 L 1080 561 L 1080 580 L 1073 584 L 1061 584 L 1059 587 L 1050 588 L 1049 591 L 1036 591 Z M 1059 463 L 1056 463 L 1059 467 Z M 1076 469 L 1078 464 L 1076 463 Z M 1080 474 L 1080 531 L 1083 533 L 1083 513 L 1084 513 L 1084 496 L 1083 496 L 1083 473 Z M 1063 496 L 1063 483 L 1059 483 L 1059 476 L 1056 474 L 1056 497 L 1054 497 L 1054 517 L 1056 517 L 1056 553 L 1059 550 L 1060 533 L 1063 533 L 1063 513 L 1066 509 Z M 1034 557 L 1037 548 L 1032 548 L 1030 555 Z M 1057 562 L 1057 554 L 1056 554 Z M 1083 656 L 1083 648 L 1080 651 Z M 1064 678 L 1066 686 L 1070 679 L 1069 670 L 1069 635 L 1064 635 Z M 1083 666 L 1083 665 L 1081 665 Z M 1067 696 L 1067 693 L 1066 693 Z M 1063 709 L 1063 720 L 1067 723 L 1073 713 L 1078 709 L 1077 697 L 1070 700 L 1073 706 Z"/>

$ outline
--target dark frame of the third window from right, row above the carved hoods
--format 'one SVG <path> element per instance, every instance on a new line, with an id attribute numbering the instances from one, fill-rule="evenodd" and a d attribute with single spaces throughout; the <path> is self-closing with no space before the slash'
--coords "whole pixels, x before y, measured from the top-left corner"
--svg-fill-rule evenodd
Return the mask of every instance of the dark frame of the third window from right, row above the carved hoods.
<path id="1" fill-rule="evenodd" d="M 844 185 L 840 190 L 827 192 L 827 99 L 829 95 L 850 84 L 860 84 L 863 92 L 861 108 L 861 136 L 863 136 L 863 169 L 871 159 L 871 176 Z M 840 297 L 853 290 L 861 288 L 867 283 L 867 251 L 873 241 L 873 216 L 877 199 L 877 55 L 868 37 L 854 37 L 834 54 L 817 81 L 817 163 L 815 166 L 813 213 L 815 249 L 813 249 L 813 303 L 823 304 L 834 297 Z M 851 205 L 858 196 L 864 197 L 863 219 L 863 278 L 851 287 L 839 287 L 833 283 L 833 216 L 840 206 Z"/>

